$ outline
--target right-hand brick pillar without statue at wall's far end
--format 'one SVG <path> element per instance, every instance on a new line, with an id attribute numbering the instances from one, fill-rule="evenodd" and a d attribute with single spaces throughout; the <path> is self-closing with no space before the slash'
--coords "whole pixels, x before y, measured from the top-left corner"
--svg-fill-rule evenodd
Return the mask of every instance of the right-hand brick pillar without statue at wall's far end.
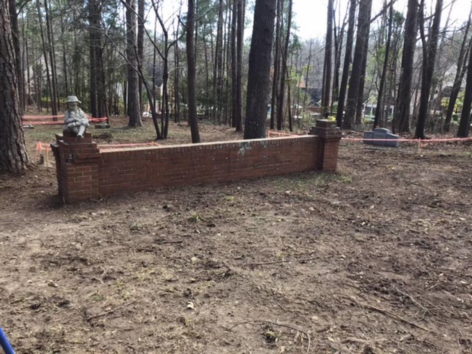
<path id="1" fill-rule="evenodd" d="M 310 129 L 310 134 L 319 137 L 318 169 L 336 171 L 339 141 L 341 140 L 341 129 L 336 126 L 336 121 L 318 119 L 316 126 Z"/>

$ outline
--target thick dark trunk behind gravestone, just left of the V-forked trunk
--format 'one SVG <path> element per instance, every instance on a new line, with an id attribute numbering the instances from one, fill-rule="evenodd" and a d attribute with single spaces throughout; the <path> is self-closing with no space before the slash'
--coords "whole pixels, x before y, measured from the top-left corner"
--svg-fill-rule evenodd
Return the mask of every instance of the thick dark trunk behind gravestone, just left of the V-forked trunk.
<path id="1" fill-rule="evenodd" d="M 410 101 L 413 80 L 413 57 L 416 45 L 418 1 L 408 0 L 403 40 L 402 69 L 395 104 L 393 130 L 398 133 L 410 131 Z"/>

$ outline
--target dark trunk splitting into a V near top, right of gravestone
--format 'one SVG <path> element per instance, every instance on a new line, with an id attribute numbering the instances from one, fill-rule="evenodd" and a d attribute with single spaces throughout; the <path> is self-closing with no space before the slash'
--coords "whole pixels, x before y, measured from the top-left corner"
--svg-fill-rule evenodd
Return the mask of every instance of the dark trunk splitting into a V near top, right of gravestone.
<path id="1" fill-rule="evenodd" d="M 424 5 L 424 0 L 423 0 Z M 416 122 L 415 137 L 424 139 L 424 126 L 428 118 L 429 96 L 433 81 L 434 63 L 436 60 L 436 51 L 438 49 L 439 26 L 441 24 L 442 0 L 436 1 L 436 10 L 428 34 L 428 42 L 424 39 L 424 6 L 420 5 L 420 31 L 423 42 L 423 76 L 421 78 L 421 96 L 419 102 L 418 120 Z"/>

